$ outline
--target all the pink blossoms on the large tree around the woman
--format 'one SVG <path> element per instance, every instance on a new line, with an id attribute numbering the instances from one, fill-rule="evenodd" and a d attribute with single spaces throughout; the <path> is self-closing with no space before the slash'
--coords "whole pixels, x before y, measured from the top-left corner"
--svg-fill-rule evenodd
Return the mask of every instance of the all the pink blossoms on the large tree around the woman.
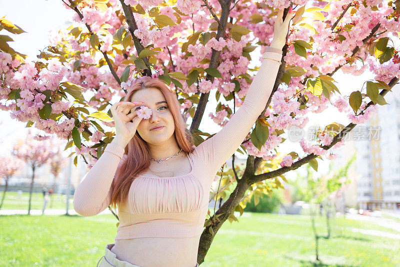
<path id="1" fill-rule="evenodd" d="M 308 5 L 307 1 L 304 0 L 291 2 L 299 7 L 305 4 Z M 110 7 L 103 10 L 99 9 L 93 0 L 80 2 L 77 8 L 83 18 L 80 19 L 75 14 L 73 21 L 80 24 L 82 32 L 88 32 L 83 25 L 87 24 L 91 32 L 97 35 L 100 42 L 100 52 L 109 52 L 107 55 L 112 61 L 112 67 L 116 75 L 120 77 L 127 64 L 129 64 L 124 61 L 130 58 L 130 55 L 137 56 L 137 51 L 133 43 L 131 43 L 125 49 L 122 49 L 121 54 L 113 53 L 113 35 L 120 27 L 124 27 L 126 31 L 128 27 L 123 24 L 124 17 L 120 2 L 118 0 L 109 0 L 108 3 Z M 145 0 L 141 1 L 140 5 L 148 12 L 152 7 L 157 7 L 160 3 L 160 0 Z M 220 12 L 221 7 L 217 0 L 211 0 L 207 3 L 215 14 Z M 388 2 L 378 0 L 367 0 L 365 3 L 367 7 L 364 7 L 358 1 L 354 1 L 352 5 L 354 5 L 356 12 L 346 12 L 333 32 L 330 28 L 343 13 L 343 7 L 348 5 L 348 1 L 329 2 L 329 12 L 321 11 L 325 17 L 324 21 L 316 20 L 311 25 L 315 31 L 298 25 L 291 26 L 287 41 L 290 45 L 284 56 L 286 68 L 292 66 L 301 67 L 304 69 L 305 74 L 300 77 L 291 77 L 288 86 L 283 86 L 282 84 L 272 95 L 270 105 L 264 114 L 265 120 L 269 124 L 269 133 L 274 130 L 288 129 L 292 125 L 303 128 L 308 123 L 307 113 L 320 113 L 330 105 L 329 99 L 325 96 L 315 96 L 304 87 L 305 77 L 330 74 L 337 67 L 341 67 L 343 73 L 351 73 L 352 75 L 360 75 L 369 70 L 375 75 L 375 80 L 381 80 L 386 83 L 393 77 L 400 78 L 400 63 L 398 60 L 393 59 L 380 64 L 373 55 L 369 55 L 368 49 L 362 43 L 363 39 L 370 35 L 371 30 L 378 23 L 380 23 L 381 27 L 378 32 L 382 33 L 379 38 L 389 37 L 393 34 L 397 35 L 396 31 L 398 31 L 399 22 L 398 20 L 396 21 L 395 16 L 392 16 L 393 8 L 388 6 Z M 139 2 L 137 0 L 124 0 L 124 4 L 134 7 Z M 272 0 L 265 2 L 265 4 L 281 9 L 288 7 L 290 1 Z M 211 37 L 203 45 L 198 39 L 195 43 L 189 44 L 186 51 L 182 51 L 181 44 L 187 42 L 193 33 L 197 31 L 209 32 L 209 26 L 214 22 L 208 9 L 201 5 L 203 5 L 203 2 L 199 0 L 179 0 L 175 6 L 179 13 L 173 9 L 175 8 L 174 6 L 158 7 L 159 14 L 168 16 L 174 23 L 177 23 L 177 17 L 180 17 L 181 22 L 174 26 L 159 27 L 151 17 L 133 13 L 137 25 L 134 35 L 140 39 L 144 47 L 151 45 L 147 49 L 162 49 L 155 55 L 157 58 L 156 65 L 162 64 L 165 66 L 159 69 L 158 66 L 153 67 L 153 72 L 155 73 L 152 74 L 152 77 L 154 78 L 173 71 L 188 75 L 193 67 L 206 69 L 209 64 L 206 62 L 200 63 L 200 61 L 204 59 L 210 60 L 212 50 L 219 51 L 220 57 L 216 69 L 222 78 L 214 78 L 212 82 L 207 81 L 205 80 L 206 73 L 204 73 L 200 74 L 198 82 L 195 81 L 190 86 L 181 81 L 182 89 L 175 88 L 173 83 L 170 83 L 169 86 L 187 94 L 205 94 L 212 89 L 216 89 L 222 96 L 226 97 L 234 91 L 235 83 L 233 83 L 233 80 L 235 79 L 239 83 L 240 89 L 238 92 L 234 92 L 234 103 L 236 107 L 240 107 L 252 80 L 252 78 L 244 79 L 242 76 L 247 73 L 250 64 L 249 59 L 243 54 L 243 49 L 249 44 L 261 44 L 261 48 L 270 44 L 273 36 L 274 17 L 270 16 L 271 11 L 269 9 L 260 9 L 257 3 L 238 2 L 235 8 L 232 9 L 230 16 L 232 18 L 242 16 L 242 19 L 235 22 L 235 25 L 249 29 L 252 34 L 244 35 L 240 41 L 236 41 L 231 33 L 227 31 L 218 40 Z M 233 3 L 231 5 L 233 6 Z M 312 3 L 313 7 L 321 9 L 325 5 L 326 2 Z M 374 6 L 377 7 L 376 10 L 371 8 Z M 253 23 L 253 15 L 259 15 L 262 18 L 262 22 Z M 351 31 L 347 31 L 345 28 L 345 26 L 349 25 L 351 26 Z M 43 103 L 46 99 L 46 95 L 43 94 L 44 91 L 49 90 L 51 93 L 52 114 L 64 113 L 71 115 L 77 105 L 73 101 L 67 101 L 59 97 L 60 82 L 68 81 L 84 88 L 82 93 L 86 102 L 89 107 L 94 109 L 98 109 L 106 102 L 111 101 L 115 95 L 119 97 L 125 96 L 123 90 L 127 90 L 134 83 L 134 79 L 130 75 L 126 82 L 122 82 L 119 85 L 111 74 L 109 66 L 99 67 L 97 58 L 99 55 L 101 57 L 103 55 L 97 51 L 93 56 L 90 39 L 79 40 L 79 38 L 68 32 L 69 30 L 61 31 L 61 33 L 56 33 L 50 37 L 50 43 L 53 46 L 62 47 L 62 51 L 70 55 L 66 63 L 61 63 L 57 58 L 40 59 L 40 62 L 44 65 L 34 62 L 31 58 L 26 58 L 24 62 L 20 62 L 17 59 L 12 60 L 11 55 L 0 52 L 0 78 L 3 81 L 3 85 L 0 87 L 0 99 L 7 100 L 11 90 L 20 89 L 20 98 L 14 102 L 6 101 L 4 104 L 0 102 L 0 109 L 10 111 L 11 118 L 18 121 L 34 122 L 36 128 L 46 133 L 54 133 L 61 139 L 70 138 L 70 132 L 75 127 L 75 124 L 79 133 L 82 133 L 83 128 L 89 126 L 89 124 L 87 122 L 75 123 L 77 118 L 66 118 L 66 116 L 62 116 L 57 121 L 51 118 L 41 119 L 38 112 L 45 104 Z M 126 34 L 130 33 L 127 32 Z M 346 39 L 340 41 L 339 35 L 344 36 Z M 300 57 L 295 53 L 292 42 L 296 40 L 303 40 L 312 45 L 312 49 L 306 50 L 306 58 Z M 356 56 L 364 64 L 359 64 L 357 61 L 347 62 L 356 47 L 361 47 Z M 252 60 L 261 62 L 261 56 L 259 55 L 259 58 L 256 57 Z M 394 58 L 396 57 L 398 56 L 395 55 Z M 172 64 L 165 64 L 170 60 L 172 60 L 173 66 Z M 131 69 L 135 69 L 134 66 Z M 136 69 L 133 72 L 137 74 Z M 300 107 L 299 97 L 304 97 L 307 100 L 305 107 Z M 376 105 L 371 105 L 362 114 L 354 114 L 345 97 L 331 93 L 330 99 L 332 105 L 339 112 L 345 113 L 351 122 L 357 124 L 365 123 L 378 109 Z M 191 101 L 185 100 L 181 105 L 181 109 L 188 109 L 192 105 Z M 363 102 L 360 111 L 365 108 L 365 105 L 366 103 Z M 147 109 L 142 107 L 139 110 L 140 116 L 146 118 L 151 115 L 149 114 L 149 109 Z M 186 113 L 186 116 L 188 117 L 189 113 Z M 220 126 L 224 126 L 228 121 L 228 112 L 226 110 L 218 111 L 215 115 L 209 113 L 209 116 Z M 104 122 L 103 124 L 113 126 L 113 122 Z M 90 141 L 99 142 L 102 137 L 103 134 L 95 130 L 90 137 Z M 331 142 L 330 138 L 331 136 L 327 134 L 319 134 L 316 143 L 326 145 Z M 276 148 L 281 140 L 280 136 L 271 134 L 270 138 L 262 146 L 261 151 L 255 148 L 250 140 L 244 145 L 249 154 L 260 156 L 264 159 L 272 159 L 276 157 L 276 154 L 271 150 Z M 335 157 L 334 154 L 326 154 L 326 151 L 321 151 L 318 144 L 311 145 L 303 140 L 300 145 L 306 153 L 324 155 L 327 158 Z M 84 145 L 81 146 L 80 150 L 77 148 L 76 150 L 77 154 L 88 152 L 95 154 L 96 151 Z M 288 156 L 286 155 L 282 158 L 282 166 L 289 166 L 292 163 L 291 158 Z"/>

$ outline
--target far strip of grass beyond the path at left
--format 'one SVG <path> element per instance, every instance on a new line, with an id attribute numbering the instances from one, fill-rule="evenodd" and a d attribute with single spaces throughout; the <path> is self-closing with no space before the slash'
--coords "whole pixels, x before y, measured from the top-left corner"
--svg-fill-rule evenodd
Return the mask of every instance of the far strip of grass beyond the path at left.
<path id="1" fill-rule="evenodd" d="M 0 192 L 0 201 L 3 196 L 3 192 Z M 64 209 L 66 207 L 66 195 L 64 194 L 52 194 L 50 201 L 46 205 L 46 209 Z M 30 203 L 30 209 L 42 209 L 43 208 L 43 193 L 32 193 L 32 200 Z M 6 192 L 1 209 L 28 209 L 29 206 L 29 192 L 22 192 L 20 198 L 18 198 L 16 192 Z M 69 198 L 69 208 L 72 206 L 72 198 Z"/>

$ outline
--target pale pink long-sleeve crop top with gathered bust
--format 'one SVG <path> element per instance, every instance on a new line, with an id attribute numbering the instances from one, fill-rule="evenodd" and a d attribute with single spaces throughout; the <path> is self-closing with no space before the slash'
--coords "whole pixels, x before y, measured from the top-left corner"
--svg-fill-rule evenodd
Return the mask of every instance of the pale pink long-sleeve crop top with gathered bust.
<path id="1" fill-rule="evenodd" d="M 116 239 L 192 237 L 201 234 L 209 190 L 223 163 L 245 139 L 270 96 L 282 51 L 266 47 L 257 75 L 240 108 L 222 129 L 188 153 L 191 171 L 174 177 L 138 175 L 127 205 L 118 206 Z M 107 153 L 106 153 L 107 152 Z M 100 213 L 110 204 L 112 187 L 124 148 L 110 143 L 75 189 L 73 208 L 83 216 Z"/>

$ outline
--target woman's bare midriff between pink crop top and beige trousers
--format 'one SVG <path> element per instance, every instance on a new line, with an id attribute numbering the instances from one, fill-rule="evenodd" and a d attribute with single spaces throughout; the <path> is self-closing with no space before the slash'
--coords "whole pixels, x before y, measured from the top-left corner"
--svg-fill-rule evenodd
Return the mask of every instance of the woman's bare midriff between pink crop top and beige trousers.
<path id="1" fill-rule="evenodd" d="M 194 267 L 200 235 L 187 238 L 141 237 L 116 239 L 116 258 L 139 266 Z"/>

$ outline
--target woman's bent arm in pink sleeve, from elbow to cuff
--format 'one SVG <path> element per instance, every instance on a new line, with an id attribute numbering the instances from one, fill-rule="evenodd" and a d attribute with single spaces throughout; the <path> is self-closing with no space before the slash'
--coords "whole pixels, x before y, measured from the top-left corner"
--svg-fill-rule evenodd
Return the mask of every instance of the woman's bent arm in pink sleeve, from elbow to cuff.
<path id="1" fill-rule="evenodd" d="M 115 140 L 115 139 L 114 139 Z M 121 163 L 124 148 L 111 141 L 100 158 L 83 176 L 73 194 L 73 208 L 82 216 L 93 216 L 109 206 L 112 180 Z"/>

